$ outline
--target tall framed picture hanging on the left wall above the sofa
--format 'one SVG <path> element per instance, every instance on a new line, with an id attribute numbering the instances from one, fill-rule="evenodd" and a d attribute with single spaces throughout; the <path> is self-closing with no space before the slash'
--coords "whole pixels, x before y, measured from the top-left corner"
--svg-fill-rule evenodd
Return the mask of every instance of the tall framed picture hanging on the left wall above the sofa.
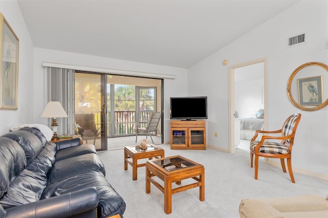
<path id="1" fill-rule="evenodd" d="M 19 39 L 0 13 L 0 110 L 17 110 Z"/>

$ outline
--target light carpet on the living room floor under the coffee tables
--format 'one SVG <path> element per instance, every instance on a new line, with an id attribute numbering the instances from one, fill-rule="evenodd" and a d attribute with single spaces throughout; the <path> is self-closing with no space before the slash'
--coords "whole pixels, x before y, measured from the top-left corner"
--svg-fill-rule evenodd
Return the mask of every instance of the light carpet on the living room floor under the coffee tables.
<path id="1" fill-rule="evenodd" d="M 145 167 L 138 168 L 138 180 L 132 180 L 132 168 L 124 170 L 124 150 L 99 151 L 106 178 L 127 204 L 125 218 L 151 217 L 239 217 L 239 203 L 246 198 L 275 198 L 317 194 L 325 198 L 328 181 L 294 172 L 296 183 L 281 168 L 259 161 L 258 180 L 250 167 L 248 150 L 235 149 L 235 154 L 215 149 L 171 150 L 160 144 L 165 156 L 181 155 L 205 167 L 205 201 L 199 201 L 199 188 L 172 195 L 172 213 L 164 212 L 164 195 L 153 184 L 145 191 Z M 146 162 L 147 160 L 141 160 Z M 182 181 L 186 185 L 188 180 Z"/>

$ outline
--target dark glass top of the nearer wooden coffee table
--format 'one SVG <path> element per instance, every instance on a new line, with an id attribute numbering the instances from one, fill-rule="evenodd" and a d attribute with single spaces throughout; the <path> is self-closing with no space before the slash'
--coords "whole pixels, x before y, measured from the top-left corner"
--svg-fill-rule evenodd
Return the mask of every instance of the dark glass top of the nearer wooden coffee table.
<path id="1" fill-rule="evenodd" d="M 158 166 L 165 168 L 168 171 L 173 171 L 173 170 L 196 165 L 196 164 L 194 164 L 186 159 L 180 158 L 180 157 L 172 157 L 172 158 L 168 157 L 168 158 L 165 158 L 162 160 L 153 160 L 153 162 L 155 164 L 157 164 Z"/>

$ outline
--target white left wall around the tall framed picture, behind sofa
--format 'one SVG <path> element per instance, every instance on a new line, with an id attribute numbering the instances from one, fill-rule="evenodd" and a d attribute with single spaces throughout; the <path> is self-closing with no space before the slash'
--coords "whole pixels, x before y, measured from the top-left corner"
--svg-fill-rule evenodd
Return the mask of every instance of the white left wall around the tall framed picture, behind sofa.
<path id="1" fill-rule="evenodd" d="M 33 45 L 16 1 L 0 1 L 0 12 L 19 39 L 18 109 L 0 111 L 0 135 L 16 124 L 33 122 Z"/>

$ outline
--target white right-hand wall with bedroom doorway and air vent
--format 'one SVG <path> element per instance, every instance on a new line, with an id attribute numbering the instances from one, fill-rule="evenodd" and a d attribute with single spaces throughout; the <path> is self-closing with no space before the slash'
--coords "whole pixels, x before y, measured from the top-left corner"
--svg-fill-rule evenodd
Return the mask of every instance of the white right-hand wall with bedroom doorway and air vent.
<path id="1" fill-rule="evenodd" d="M 289 115 L 301 113 L 293 148 L 293 167 L 328 175 L 328 107 L 314 112 L 299 110 L 286 92 L 289 76 L 298 66 L 309 61 L 327 64 L 327 11 L 326 0 L 301 1 L 189 69 L 190 95 L 208 96 L 209 145 L 229 149 L 228 67 L 267 57 L 268 129 L 280 128 Z M 307 43 L 285 48 L 287 37 L 304 32 L 308 35 Z M 227 66 L 222 65 L 224 59 L 229 60 Z M 328 89 L 328 84 L 324 87 Z M 214 137 L 214 132 L 218 137 Z"/>

